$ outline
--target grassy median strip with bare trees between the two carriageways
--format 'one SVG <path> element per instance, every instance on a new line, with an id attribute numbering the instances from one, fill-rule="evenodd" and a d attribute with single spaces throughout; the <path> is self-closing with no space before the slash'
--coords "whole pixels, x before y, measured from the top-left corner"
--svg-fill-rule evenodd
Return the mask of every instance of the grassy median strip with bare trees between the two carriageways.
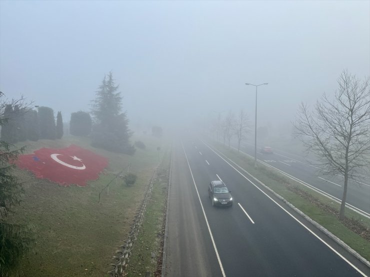
<path id="1" fill-rule="evenodd" d="M 355 250 L 364 259 L 370 261 L 370 241 L 368 240 L 370 237 L 370 220 L 368 218 L 365 218 L 348 208 L 345 209 L 346 221 L 348 222 L 352 220 L 355 222 L 356 226 L 362 226 L 362 236 L 360 236 L 339 221 L 336 215 L 332 212 L 339 212 L 339 203 L 322 196 L 321 194 L 260 163 L 258 163 L 258 167 L 255 169 L 254 160 L 242 153 L 238 153 L 237 150 L 228 149 L 219 143 L 210 144 L 225 157 L 234 161 L 237 165 L 268 186 L 275 193 L 283 197 L 298 210 L 327 229 L 350 248 Z"/>

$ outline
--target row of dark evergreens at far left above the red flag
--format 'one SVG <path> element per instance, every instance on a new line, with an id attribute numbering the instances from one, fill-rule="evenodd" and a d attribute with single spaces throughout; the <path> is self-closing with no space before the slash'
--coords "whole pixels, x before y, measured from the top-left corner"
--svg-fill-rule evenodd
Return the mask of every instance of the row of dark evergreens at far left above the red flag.
<path id="1" fill-rule="evenodd" d="M 1 122 L 1 140 L 8 143 L 20 141 L 37 141 L 39 139 L 60 139 L 63 136 L 63 120 L 61 112 L 56 116 L 49 107 L 38 107 L 37 111 L 19 105 L 5 104 Z"/>

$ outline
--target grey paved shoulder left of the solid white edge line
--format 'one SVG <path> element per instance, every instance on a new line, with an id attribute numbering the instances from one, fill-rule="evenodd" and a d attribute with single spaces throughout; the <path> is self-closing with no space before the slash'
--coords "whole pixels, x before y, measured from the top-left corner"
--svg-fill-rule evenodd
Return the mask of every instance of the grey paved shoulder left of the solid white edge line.
<path id="1" fill-rule="evenodd" d="M 168 231 L 164 275 L 222 276 L 212 247 L 188 164 L 180 143 L 174 143 L 168 197 Z"/>

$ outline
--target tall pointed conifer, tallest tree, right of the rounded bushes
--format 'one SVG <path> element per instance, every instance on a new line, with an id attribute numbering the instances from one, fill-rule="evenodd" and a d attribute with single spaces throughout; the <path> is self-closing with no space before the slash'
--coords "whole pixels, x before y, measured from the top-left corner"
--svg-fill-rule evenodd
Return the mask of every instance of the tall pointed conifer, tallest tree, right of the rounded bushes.
<path id="1" fill-rule="evenodd" d="M 92 100 L 92 115 L 94 117 L 91 145 L 110 151 L 132 155 L 135 148 L 129 144 L 132 132 L 128 129 L 128 119 L 125 112 L 121 113 L 122 97 L 117 92 L 112 73 L 104 76 L 96 98 Z"/>

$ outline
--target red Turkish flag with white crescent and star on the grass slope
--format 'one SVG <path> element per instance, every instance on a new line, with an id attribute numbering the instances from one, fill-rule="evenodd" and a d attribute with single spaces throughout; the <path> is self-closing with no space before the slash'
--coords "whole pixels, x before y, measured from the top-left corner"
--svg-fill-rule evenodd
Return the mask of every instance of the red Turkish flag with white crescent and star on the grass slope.
<path id="1" fill-rule="evenodd" d="M 48 179 L 63 186 L 86 186 L 96 180 L 108 165 L 108 159 L 89 150 L 70 145 L 67 148 L 41 148 L 33 154 L 19 156 L 16 164 L 32 171 L 37 178 Z"/>

